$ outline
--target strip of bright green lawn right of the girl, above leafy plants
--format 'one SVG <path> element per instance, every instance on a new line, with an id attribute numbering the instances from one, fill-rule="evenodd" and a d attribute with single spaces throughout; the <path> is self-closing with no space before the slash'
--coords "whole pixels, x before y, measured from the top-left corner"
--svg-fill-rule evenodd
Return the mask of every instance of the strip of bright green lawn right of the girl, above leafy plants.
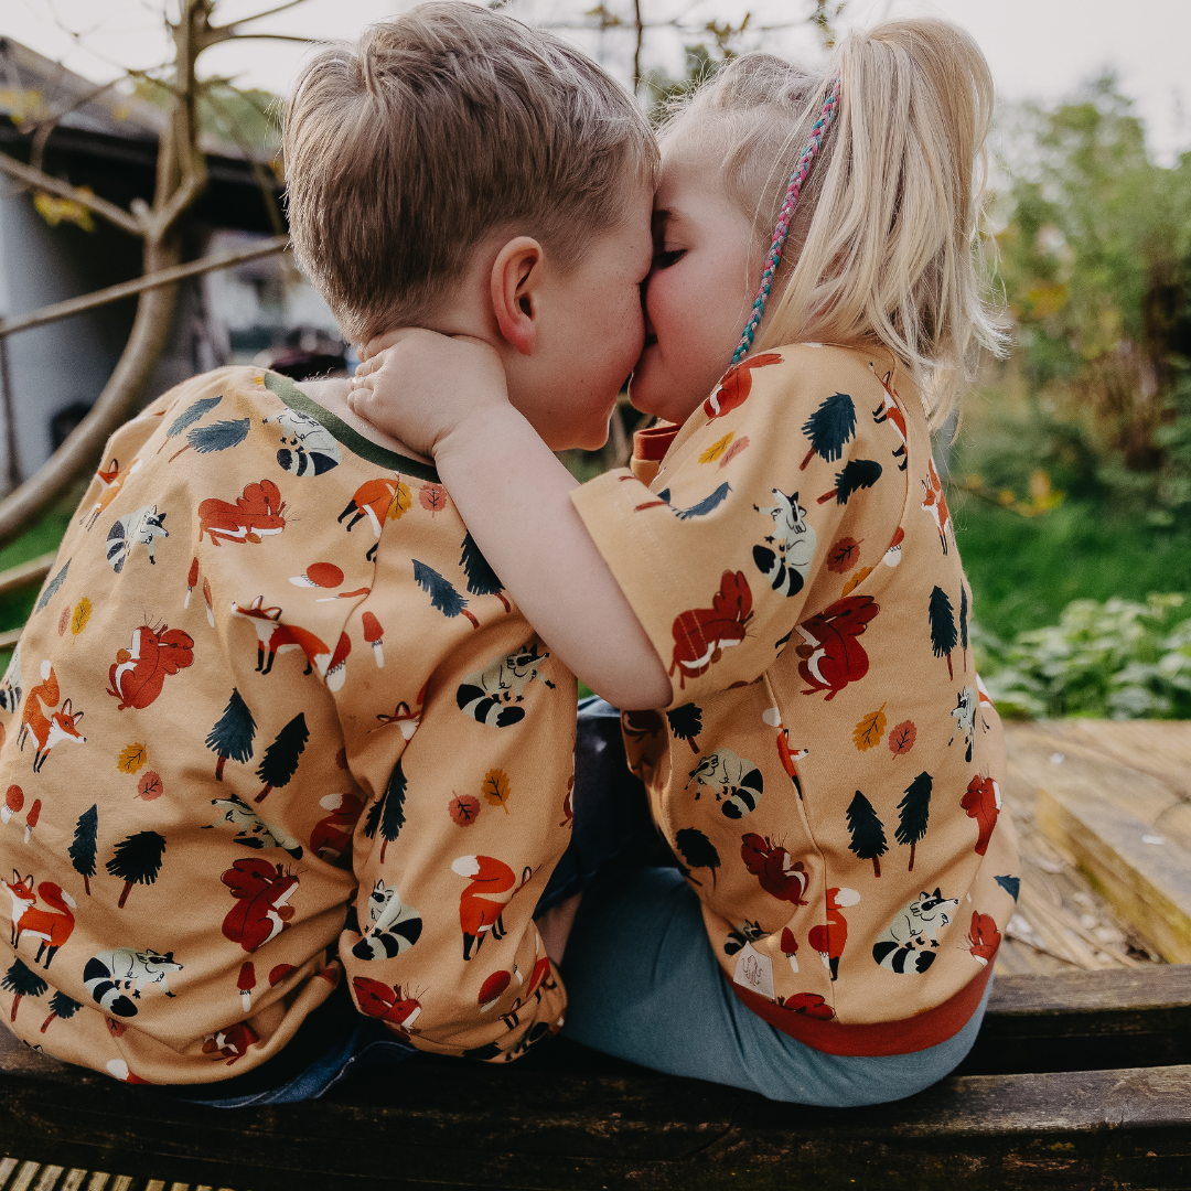
<path id="1" fill-rule="evenodd" d="M 1191 596 L 1191 537 L 1114 519 L 1068 500 L 1025 518 L 973 498 L 956 498 L 955 538 L 972 584 L 973 618 L 998 637 L 1058 624 L 1073 599 L 1151 592 Z M 1191 615 L 1191 600 L 1180 619 Z"/>

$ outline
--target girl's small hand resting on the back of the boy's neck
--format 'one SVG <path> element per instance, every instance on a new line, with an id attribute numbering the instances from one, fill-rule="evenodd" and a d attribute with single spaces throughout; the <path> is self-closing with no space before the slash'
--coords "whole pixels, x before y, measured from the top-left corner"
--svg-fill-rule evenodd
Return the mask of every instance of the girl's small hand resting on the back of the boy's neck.
<path id="1" fill-rule="evenodd" d="M 434 456 L 482 410 L 509 404 L 500 356 L 482 339 L 409 328 L 370 341 L 360 355 L 348 405 L 423 455 Z"/>

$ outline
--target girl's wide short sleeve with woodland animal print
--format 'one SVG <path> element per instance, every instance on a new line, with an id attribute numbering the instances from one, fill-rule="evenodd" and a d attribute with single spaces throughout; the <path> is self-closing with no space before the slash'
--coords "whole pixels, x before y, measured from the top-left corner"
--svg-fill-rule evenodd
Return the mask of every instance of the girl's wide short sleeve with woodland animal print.
<path id="1" fill-rule="evenodd" d="M 669 668 L 672 706 L 757 679 L 812 640 L 807 611 L 875 613 L 852 594 L 871 568 L 844 581 L 831 557 L 866 537 L 894 544 L 904 419 L 886 394 L 860 353 L 760 354 L 724 375 L 649 487 L 622 468 L 572 493 Z"/>

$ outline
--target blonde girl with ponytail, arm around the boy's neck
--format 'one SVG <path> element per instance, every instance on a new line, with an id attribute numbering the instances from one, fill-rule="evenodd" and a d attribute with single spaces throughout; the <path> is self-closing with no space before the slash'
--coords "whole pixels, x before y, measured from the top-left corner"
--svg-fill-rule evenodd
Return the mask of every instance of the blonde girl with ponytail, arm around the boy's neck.
<path id="1" fill-rule="evenodd" d="M 999 345 L 991 110 L 939 20 L 854 35 L 823 76 L 738 58 L 679 108 L 631 387 L 669 424 L 631 472 L 575 487 L 482 344 L 398 332 L 363 366 L 355 407 L 435 455 L 550 648 L 666 709 L 623 727 L 679 869 L 587 890 L 573 1039 L 830 1105 L 909 1096 L 974 1040 L 1018 869 L 930 428 Z M 429 375 L 450 399 L 403 403 Z"/>

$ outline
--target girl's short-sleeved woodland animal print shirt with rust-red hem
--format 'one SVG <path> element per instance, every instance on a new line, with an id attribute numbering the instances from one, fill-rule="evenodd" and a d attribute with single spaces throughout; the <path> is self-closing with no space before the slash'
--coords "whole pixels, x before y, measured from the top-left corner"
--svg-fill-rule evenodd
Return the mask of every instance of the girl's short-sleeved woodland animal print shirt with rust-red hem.
<path id="1" fill-rule="evenodd" d="M 884 353 L 747 357 L 573 499 L 673 699 L 622 717 L 725 978 L 837 1054 L 955 1034 L 1018 865 L 972 593 Z"/>

